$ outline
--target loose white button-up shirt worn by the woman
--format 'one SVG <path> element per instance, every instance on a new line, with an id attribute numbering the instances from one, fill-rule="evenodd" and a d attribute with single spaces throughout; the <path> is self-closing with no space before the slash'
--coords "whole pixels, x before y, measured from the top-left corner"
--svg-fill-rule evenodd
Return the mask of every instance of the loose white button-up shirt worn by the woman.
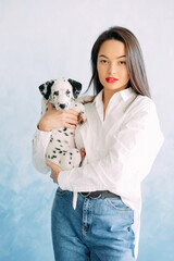
<path id="1" fill-rule="evenodd" d="M 77 127 L 75 141 L 85 148 L 80 167 L 62 171 L 59 186 L 71 191 L 110 190 L 134 210 L 135 256 L 137 256 L 141 194 L 140 183 L 149 173 L 163 142 L 156 105 L 132 87 L 115 92 L 103 120 L 102 92 L 85 105 L 87 122 Z M 45 152 L 50 133 L 36 130 L 33 144 L 35 167 L 47 173 Z"/>

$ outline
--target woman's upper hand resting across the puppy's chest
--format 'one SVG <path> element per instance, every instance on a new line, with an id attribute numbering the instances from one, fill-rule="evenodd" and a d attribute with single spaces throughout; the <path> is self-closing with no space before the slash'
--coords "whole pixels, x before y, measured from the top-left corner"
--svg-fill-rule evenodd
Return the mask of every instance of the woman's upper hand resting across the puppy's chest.
<path id="1" fill-rule="evenodd" d="M 76 124 L 78 124 L 78 112 L 72 109 L 58 111 L 48 102 L 48 111 L 40 119 L 38 128 L 44 132 L 50 132 L 59 127 L 76 128 Z"/>

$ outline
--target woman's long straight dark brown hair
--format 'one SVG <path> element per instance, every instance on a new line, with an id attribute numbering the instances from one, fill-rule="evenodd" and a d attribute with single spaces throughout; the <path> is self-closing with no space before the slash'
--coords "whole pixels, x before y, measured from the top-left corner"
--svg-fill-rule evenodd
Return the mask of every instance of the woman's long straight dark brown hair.
<path id="1" fill-rule="evenodd" d="M 122 41 L 125 45 L 126 64 L 129 74 L 128 87 L 132 87 L 139 95 L 150 97 L 144 58 L 139 42 L 130 30 L 120 26 L 109 28 L 108 30 L 103 32 L 96 40 L 91 50 L 92 76 L 89 82 L 88 89 L 92 83 L 95 87 L 95 95 L 98 95 L 100 90 L 103 89 L 97 72 L 97 59 L 101 45 L 105 40 L 110 39 Z"/>

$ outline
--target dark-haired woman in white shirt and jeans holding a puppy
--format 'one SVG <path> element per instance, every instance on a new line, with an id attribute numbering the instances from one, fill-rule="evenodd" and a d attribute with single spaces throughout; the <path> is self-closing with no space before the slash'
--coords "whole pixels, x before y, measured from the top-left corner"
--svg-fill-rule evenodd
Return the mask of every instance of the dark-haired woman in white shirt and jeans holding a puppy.
<path id="1" fill-rule="evenodd" d="M 76 129 L 76 145 L 85 148 L 80 167 L 62 171 L 45 163 L 51 129 L 77 124 L 74 111 L 64 115 L 49 104 L 34 138 L 34 165 L 51 167 L 59 184 L 52 207 L 55 260 L 116 260 L 137 258 L 140 184 L 163 142 L 156 105 L 150 98 L 141 50 L 126 28 L 102 33 L 91 51 L 95 99 L 87 103 L 87 122 Z M 76 209 L 73 191 L 78 192 Z"/>

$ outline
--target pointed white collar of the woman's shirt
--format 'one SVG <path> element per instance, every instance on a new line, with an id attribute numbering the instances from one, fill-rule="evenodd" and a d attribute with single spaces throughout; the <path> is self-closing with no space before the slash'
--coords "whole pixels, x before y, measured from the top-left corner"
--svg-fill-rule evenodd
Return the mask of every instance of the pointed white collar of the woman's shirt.
<path id="1" fill-rule="evenodd" d="M 96 103 L 96 105 L 100 105 L 102 102 L 102 94 L 103 94 L 103 89 L 96 96 L 94 103 Z M 123 101 L 128 100 L 128 98 L 130 98 L 132 96 L 135 96 L 136 92 L 132 87 L 128 87 L 126 89 L 120 90 L 117 92 L 115 92 L 112 97 L 110 101 L 114 101 L 117 98 L 121 98 Z"/>

